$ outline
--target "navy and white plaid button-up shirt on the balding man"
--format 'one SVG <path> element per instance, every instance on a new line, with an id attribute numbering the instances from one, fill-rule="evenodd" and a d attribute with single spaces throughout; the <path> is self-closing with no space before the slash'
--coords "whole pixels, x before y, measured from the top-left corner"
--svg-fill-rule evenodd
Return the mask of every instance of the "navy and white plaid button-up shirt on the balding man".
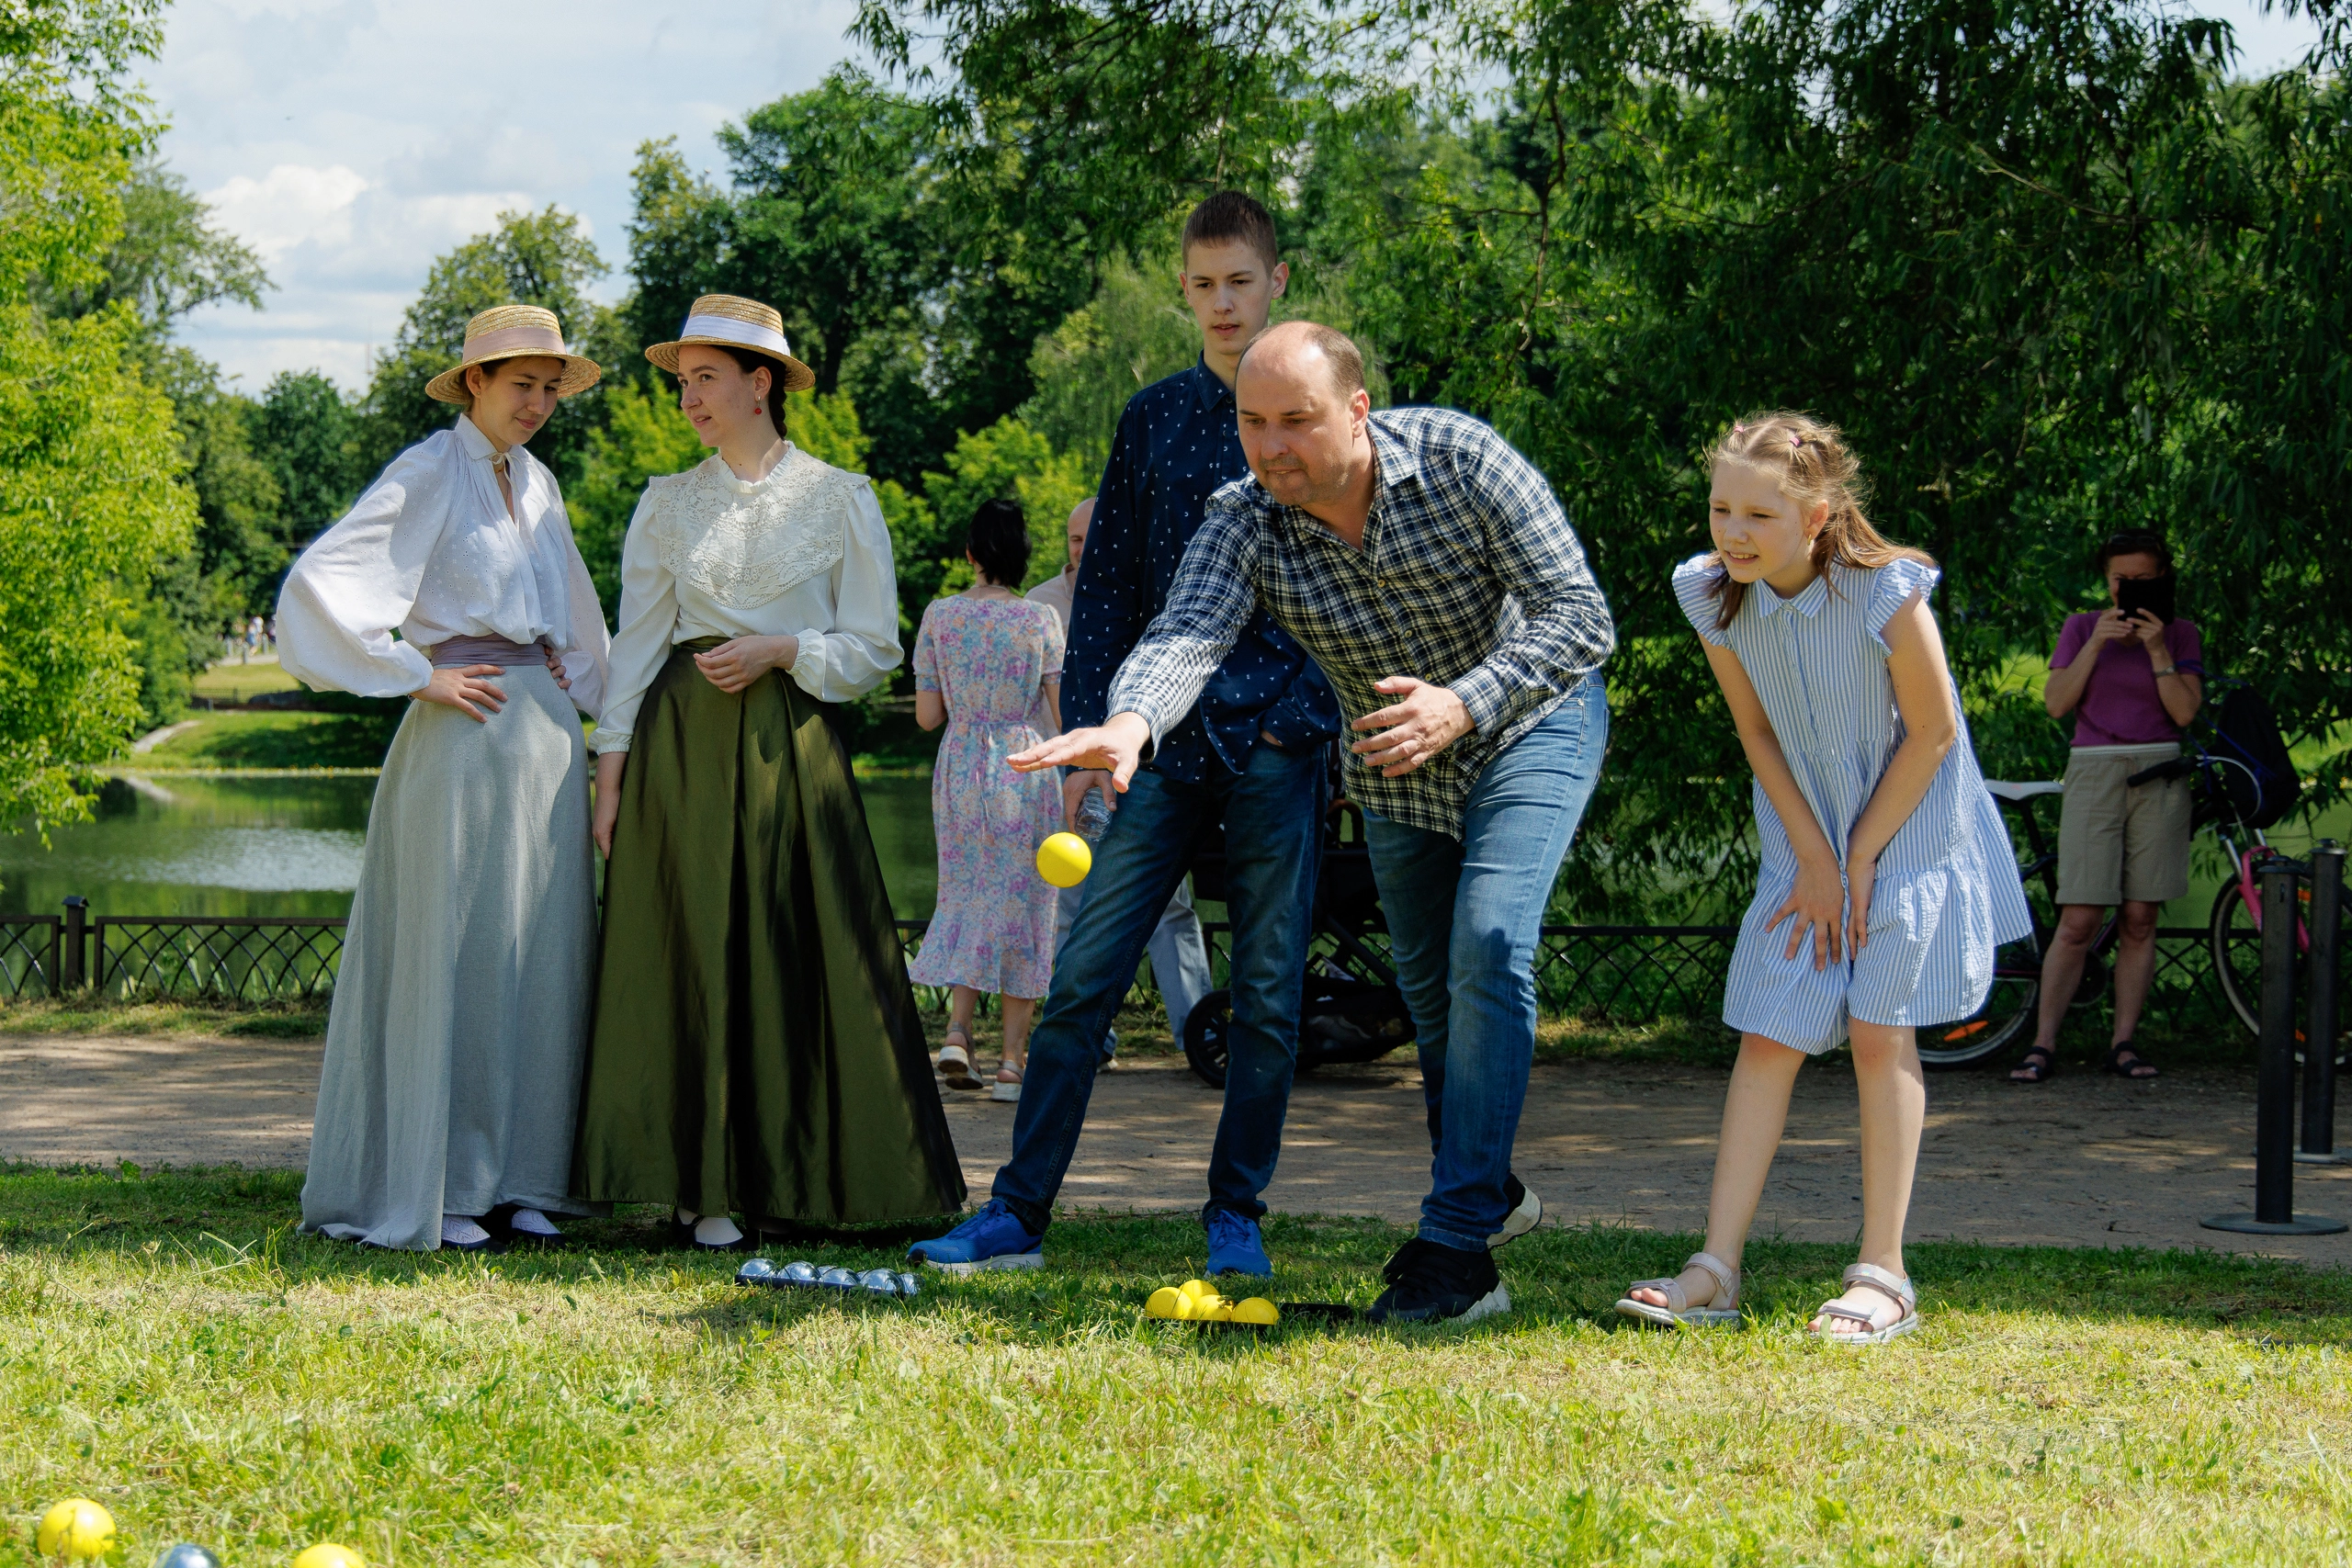
<path id="1" fill-rule="evenodd" d="M 1371 689 L 1390 675 L 1463 701 L 1477 729 L 1411 773 L 1381 778 L 1355 752 L 1345 773 L 1371 811 L 1461 837 L 1479 769 L 1609 661 L 1616 623 L 1552 487 L 1494 428 L 1388 409 L 1371 416 L 1371 449 L 1362 550 L 1254 477 L 1216 491 L 1108 710 L 1143 715 L 1157 745 L 1263 604 L 1350 722 L 1397 701 Z"/>

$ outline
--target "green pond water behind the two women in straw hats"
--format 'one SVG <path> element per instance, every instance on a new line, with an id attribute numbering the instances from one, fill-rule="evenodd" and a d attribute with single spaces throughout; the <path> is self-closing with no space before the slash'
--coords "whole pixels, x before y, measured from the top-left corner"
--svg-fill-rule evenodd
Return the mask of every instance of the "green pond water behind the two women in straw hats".
<path id="1" fill-rule="evenodd" d="M 931 912 L 931 780 L 858 780 L 901 919 Z M 0 914 L 348 914 L 374 778 L 111 778 L 92 823 L 49 849 L 0 835 Z"/>

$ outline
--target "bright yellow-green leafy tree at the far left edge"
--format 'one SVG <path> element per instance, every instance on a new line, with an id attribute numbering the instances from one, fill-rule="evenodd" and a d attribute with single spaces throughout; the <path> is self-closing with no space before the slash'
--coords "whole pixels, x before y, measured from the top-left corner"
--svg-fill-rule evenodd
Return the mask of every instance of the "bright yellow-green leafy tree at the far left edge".
<path id="1" fill-rule="evenodd" d="M 122 188 L 155 127 L 127 85 L 160 47 L 155 0 L 19 0 L 0 12 L 0 823 L 87 816 L 89 764 L 139 722 L 125 623 L 186 548 L 172 404 L 141 376 L 127 303 L 52 317 L 101 287 Z"/>

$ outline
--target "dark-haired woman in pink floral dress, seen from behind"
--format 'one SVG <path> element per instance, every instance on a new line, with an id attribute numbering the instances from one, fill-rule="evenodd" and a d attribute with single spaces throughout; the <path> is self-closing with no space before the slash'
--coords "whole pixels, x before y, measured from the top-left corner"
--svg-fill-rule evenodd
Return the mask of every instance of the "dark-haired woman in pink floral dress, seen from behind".
<path id="1" fill-rule="evenodd" d="M 1021 597 L 1028 550 L 1018 505 L 981 505 L 967 550 L 981 581 L 936 599 L 915 632 L 915 722 L 948 733 L 931 764 L 938 903 L 908 978 L 953 987 L 938 1072 L 955 1088 L 981 1086 L 971 1072 L 981 992 L 1004 999 L 995 1100 L 1021 1098 L 1030 1020 L 1054 976 L 1054 889 L 1037 875 L 1037 844 L 1061 827 L 1061 788 L 1004 762 L 1061 733 L 1061 621 Z"/>

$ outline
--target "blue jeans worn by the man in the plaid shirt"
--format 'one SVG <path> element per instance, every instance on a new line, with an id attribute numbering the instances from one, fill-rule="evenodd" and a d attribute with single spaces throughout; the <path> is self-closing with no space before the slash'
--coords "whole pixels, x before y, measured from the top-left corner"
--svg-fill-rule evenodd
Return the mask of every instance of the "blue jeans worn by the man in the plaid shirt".
<path id="1" fill-rule="evenodd" d="M 1364 813 L 1430 1103 L 1425 1241 L 1486 1251 L 1486 1237 L 1510 1213 L 1503 1180 L 1536 1058 L 1543 907 L 1604 750 L 1609 693 L 1599 675 L 1588 675 L 1479 771 L 1461 839 Z"/>

